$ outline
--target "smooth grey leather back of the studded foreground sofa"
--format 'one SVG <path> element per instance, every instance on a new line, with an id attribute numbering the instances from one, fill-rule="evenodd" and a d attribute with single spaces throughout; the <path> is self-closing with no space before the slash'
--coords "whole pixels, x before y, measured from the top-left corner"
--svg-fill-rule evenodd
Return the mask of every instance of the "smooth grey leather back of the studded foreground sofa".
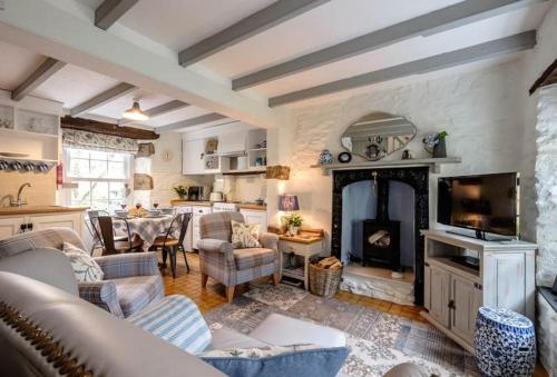
<path id="1" fill-rule="evenodd" d="M 22 312 L 94 376 L 223 376 L 198 358 L 52 286 L 0 272 L 0 302 Z M 60 376 L 51 363 L 0 320 L 0 376 Z"/>

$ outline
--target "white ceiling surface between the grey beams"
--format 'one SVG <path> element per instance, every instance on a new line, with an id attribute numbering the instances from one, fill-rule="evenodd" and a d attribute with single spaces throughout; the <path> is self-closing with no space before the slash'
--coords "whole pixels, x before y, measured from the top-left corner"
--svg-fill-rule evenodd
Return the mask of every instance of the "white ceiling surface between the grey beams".
<path id="1" fill-rule="evenodd" d="M 102 0 L 66 1 L 74 1 L 91 14 L 102 2 Z M 225 29 L 274 1 L 139 0 L 118 20 L 117 28 L 106 32 L 114 32 L 121 38 L 133 38 L 134 34 L 140 34 L 153 41 L 153 46 L 159 46 L 162 50 L 169 50 L 177 57 L 177 52 L 182 49 Z M 217 77 L 221 82 L 229 83 L 232 79 L 240 76 L 457 2 L 459 0 L 332 0 L 226 48 L 197 62 L 190 69 L 198 72 L 209 72 L 213 77 Z M 536 29 L 550 6 L 551 1 L 531 4 L 457 29 L 429 37 L 412 38 L 372 52 L 260 85 L 245 92 L 270 98 Z M 130 32 L 123 37 L 123 30 Z M 14 89 L 46 58 L 3 42 L 0 42 L 0 52 L 2 57 L 0 59 L 0 88 L 7 90 Z M 512 57 L 490 59 L 481 63 L 468 65 L 468 67 L 486 67 L 509 59 Z M 462 69 L 467 68 L 452 68 L 448 71 Z M 62 102 L 69 109 L 120 81 L 118 78 L 109 78 L 68 65 L 36 89 L 32 95 Z M 397 80 L 401 83 L 402 81 Z M 385 85 L 373 87 L 383 86 Z M 362 88 L 326 96 L 310 102 L 330 100 L 335 96 L 346 96 L 361 90 Z M 369 90 L 369 88 L 364 88 L 364 90 Z M 92 110 L 91 115 L 118 119 L 121 112 L 130 107 L 134 98 L 139 99 L 144 110 L 173 100 L 173 98 L 157 93 L 137 90 Z M 291 105 L 291 107 L 296 106 L 300 103 Z M 190 106 L 155 117 L 144 125 L 159 127 L 208 112 L 203 108 Z"/>

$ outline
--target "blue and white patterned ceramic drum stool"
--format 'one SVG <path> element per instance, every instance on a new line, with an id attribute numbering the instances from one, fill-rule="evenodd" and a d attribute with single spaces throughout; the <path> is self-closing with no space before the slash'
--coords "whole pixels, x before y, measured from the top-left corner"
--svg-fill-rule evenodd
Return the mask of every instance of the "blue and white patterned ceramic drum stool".
<path id="1" fill-rule="evenodd" d="M 508 309 L 480 308 L 473 338 L 482 376 L 525 377 L 536 366 L 536 333 L 531 321 Z"/>

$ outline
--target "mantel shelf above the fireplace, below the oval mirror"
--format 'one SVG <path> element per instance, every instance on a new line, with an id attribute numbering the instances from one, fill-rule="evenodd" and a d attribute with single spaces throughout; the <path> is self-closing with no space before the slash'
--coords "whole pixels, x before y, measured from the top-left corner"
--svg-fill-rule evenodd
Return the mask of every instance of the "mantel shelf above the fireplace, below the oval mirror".
<path id="1" fill-rule="evenodd" d="M 441 166 L 446 163 L 460 163 L 460 157 L 446 158 L 416 158 L 410 160 L 380 160 L 380 161 L 356 161 L 349 163 L 312 165 L 312 168 L 320 168 L 324 176 L 331 175 L 333 170 L 351 169 L 389 169 L 389 168 L 414 168 L 430 167 L 432 172 L 441 172 Z"/>

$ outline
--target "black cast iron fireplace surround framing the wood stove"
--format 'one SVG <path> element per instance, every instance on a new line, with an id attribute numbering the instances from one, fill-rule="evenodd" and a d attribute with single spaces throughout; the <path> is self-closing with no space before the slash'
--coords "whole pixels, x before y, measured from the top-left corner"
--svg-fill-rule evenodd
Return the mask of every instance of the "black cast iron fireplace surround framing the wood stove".
<path id="1" fill-rule="evenodd" d="M 362 180 L 397 180 L 410 185 L 414 190 L 414 304 L 423 305 L 423 237 L 421 230 L 429 229 L 429 168 L 356 169 L 333 171 L 333 218 L 331 252 L 341 258 L 342 239 L 342 190 Z"/>

